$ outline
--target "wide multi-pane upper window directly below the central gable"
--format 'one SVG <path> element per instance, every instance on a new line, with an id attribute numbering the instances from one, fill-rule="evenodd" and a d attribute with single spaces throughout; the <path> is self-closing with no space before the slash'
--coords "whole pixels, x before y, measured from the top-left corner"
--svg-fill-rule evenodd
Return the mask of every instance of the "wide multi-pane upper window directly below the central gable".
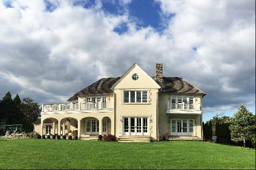
<path id="1" fill-rule="evenodd" d="M 124 91 L 124 103 L 147 103 L 148 91 Z"/>

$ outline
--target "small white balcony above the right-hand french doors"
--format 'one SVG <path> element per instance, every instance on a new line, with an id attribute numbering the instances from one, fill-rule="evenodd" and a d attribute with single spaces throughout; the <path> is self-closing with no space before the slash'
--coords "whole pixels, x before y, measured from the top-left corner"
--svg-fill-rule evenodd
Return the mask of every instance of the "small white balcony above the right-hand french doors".
<path id="1" fill-rule="evenodd" d="M 195 113 L 201 114 L 200 104 L 170 103 L 167 102 L 166 113 Z"/>

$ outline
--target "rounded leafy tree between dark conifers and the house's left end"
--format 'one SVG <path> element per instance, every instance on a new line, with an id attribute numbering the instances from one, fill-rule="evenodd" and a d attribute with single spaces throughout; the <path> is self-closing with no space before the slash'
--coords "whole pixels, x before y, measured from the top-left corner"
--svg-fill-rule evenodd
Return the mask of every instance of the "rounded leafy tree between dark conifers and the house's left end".
<path id="1" fill-rule="evenodd" d="M 26 131 L 33 131 L 33 122 L 40 117 L 40 105 L 33 102 L 33 98 L 22 98 L 19 105 L 23 115 L 22 127 Z"/>

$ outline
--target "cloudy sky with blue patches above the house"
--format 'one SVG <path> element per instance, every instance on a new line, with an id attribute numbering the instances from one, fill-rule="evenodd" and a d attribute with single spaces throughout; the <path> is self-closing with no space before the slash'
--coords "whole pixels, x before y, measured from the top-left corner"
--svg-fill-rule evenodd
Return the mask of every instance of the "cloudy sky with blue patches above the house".
<path id="1" fill-rule="evenodd" d="M 137 63 L 205 92 L 203 120 L 255 114 L 255 0 L 0 0 L 0 98 L 67 99 Z"/>

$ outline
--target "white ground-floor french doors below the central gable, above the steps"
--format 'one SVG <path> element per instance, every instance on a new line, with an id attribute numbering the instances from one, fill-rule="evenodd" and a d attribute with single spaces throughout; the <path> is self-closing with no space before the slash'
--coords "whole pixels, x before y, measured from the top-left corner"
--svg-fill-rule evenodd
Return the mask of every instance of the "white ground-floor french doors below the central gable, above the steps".
<path id="1" fill-rule="evenodd" d="M 147 117 L 123 118 L 123 135 L 148 135 Z"/>

